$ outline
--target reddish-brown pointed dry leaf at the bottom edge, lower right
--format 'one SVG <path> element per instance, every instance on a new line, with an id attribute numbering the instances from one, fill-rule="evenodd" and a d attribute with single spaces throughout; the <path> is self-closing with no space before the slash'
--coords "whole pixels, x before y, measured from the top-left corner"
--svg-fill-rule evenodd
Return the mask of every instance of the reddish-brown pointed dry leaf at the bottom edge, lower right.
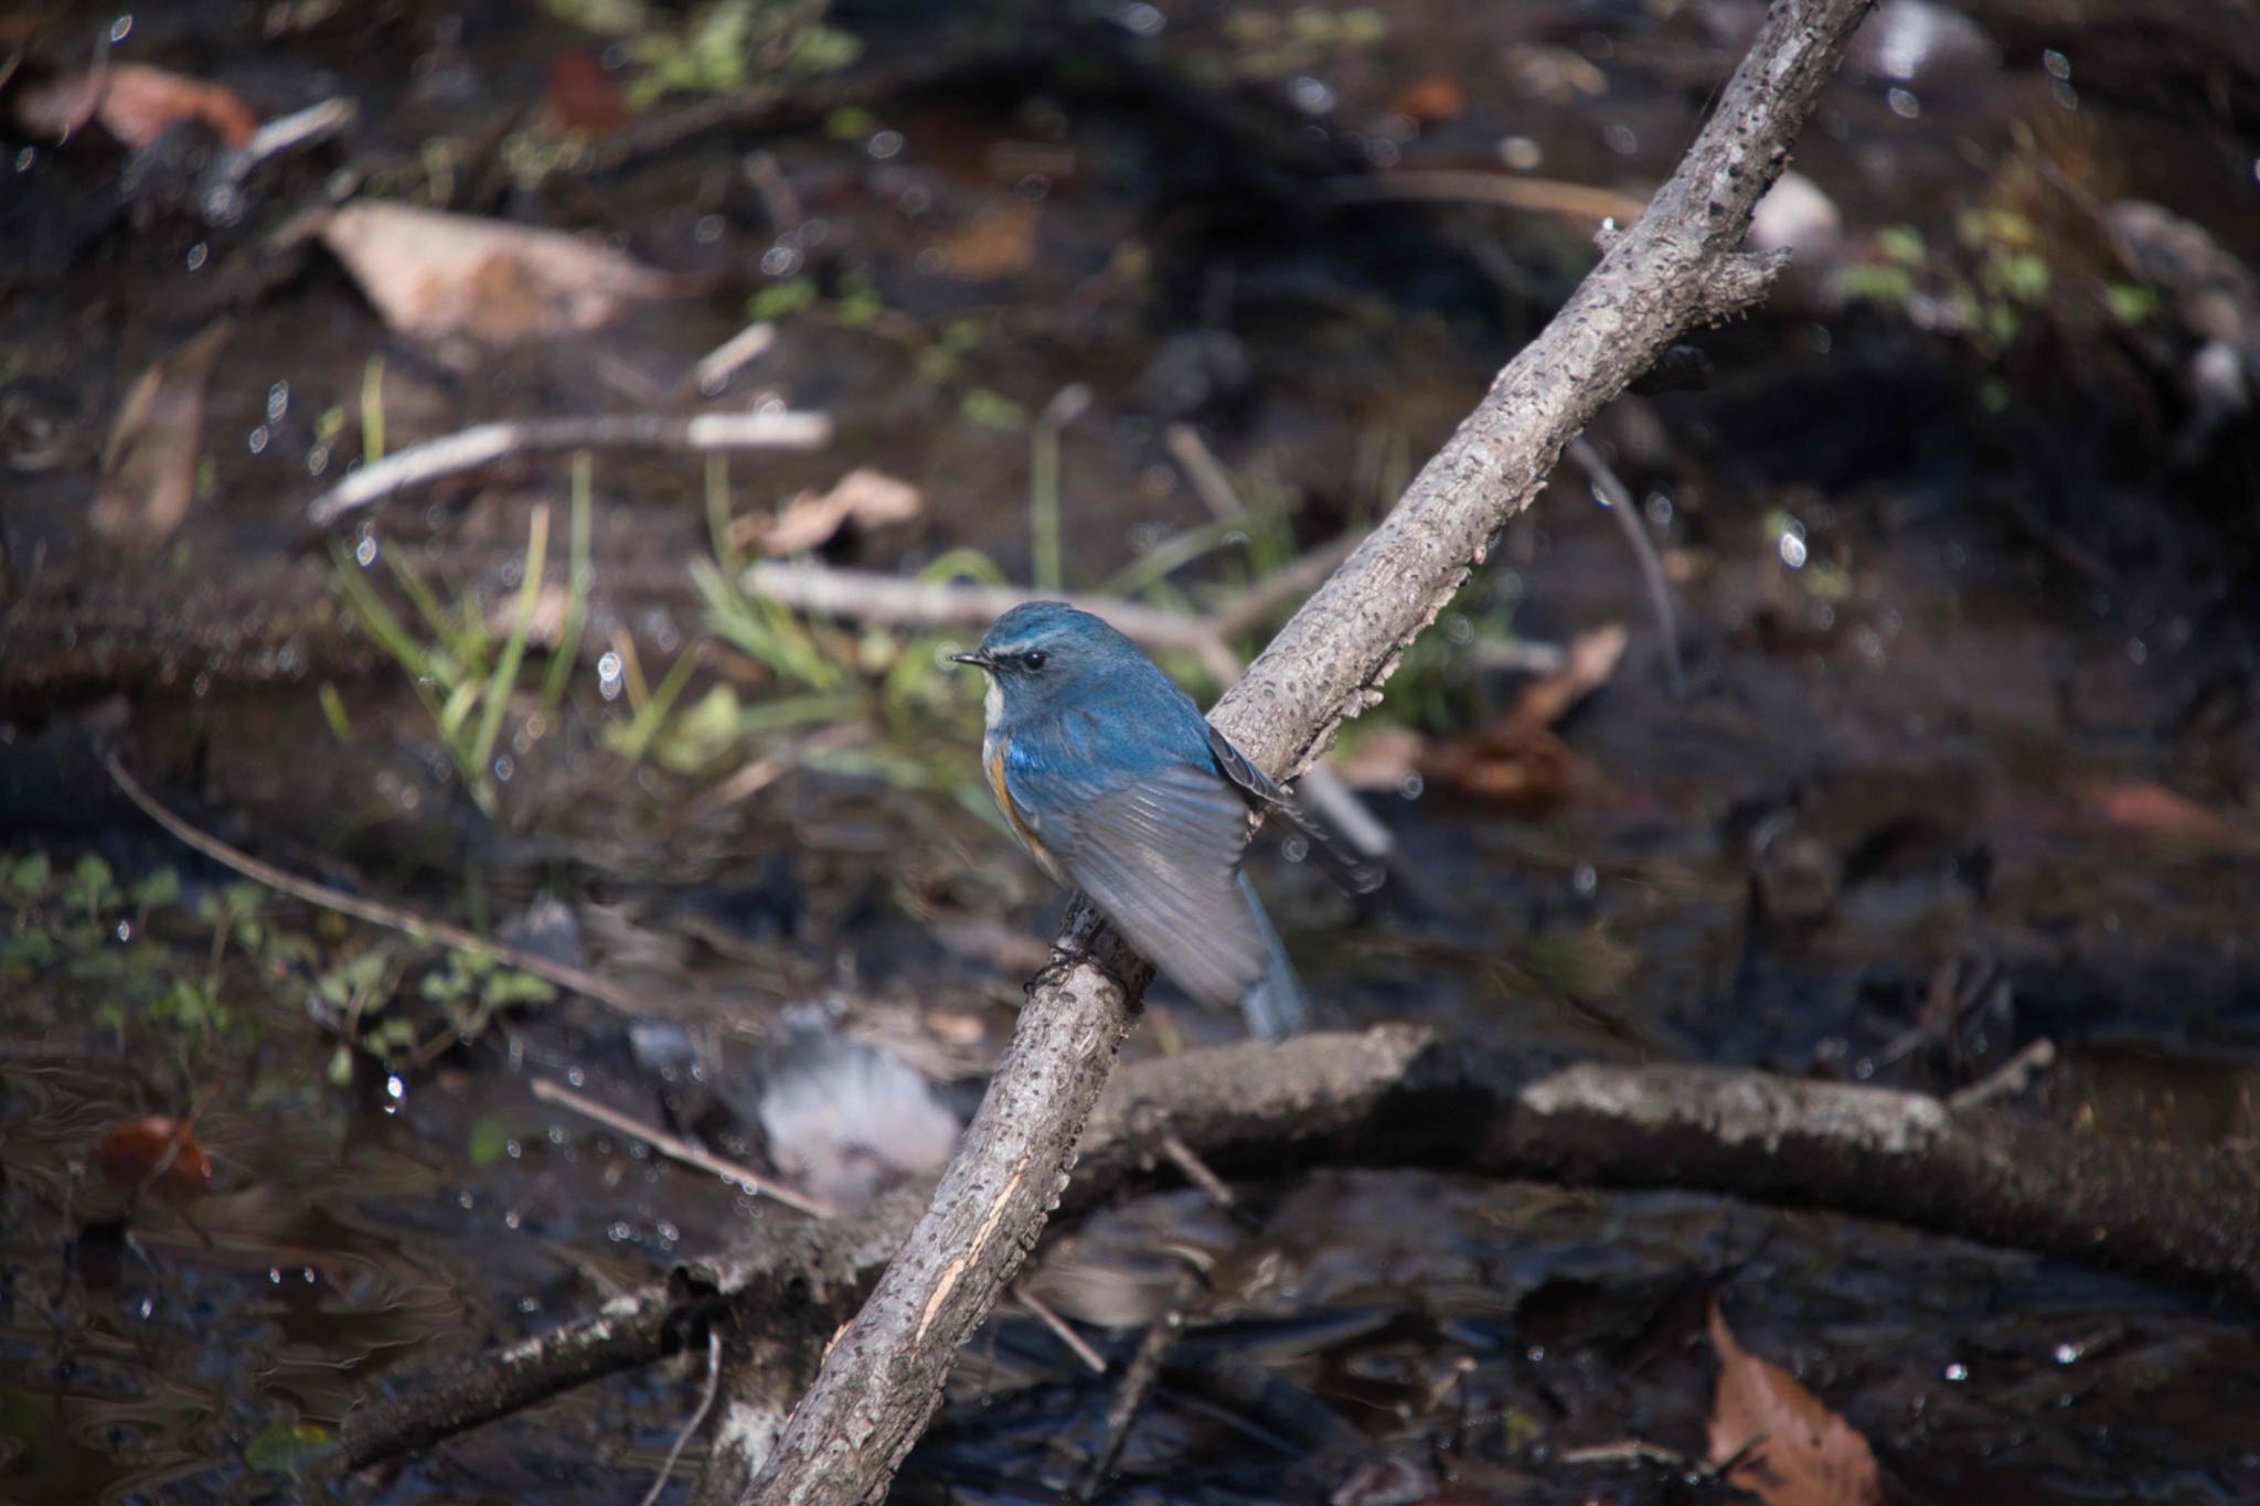
<path id="1" fill-rule="evenodd" d="M 1711 1348 L 1718 1350 L 1711 1463 L 1742 1454 L 1727 1483 L 1765 1506 L 1883 1506 L 1867 1438 L 1788 1371 L 1736 1343 L 1718 1303 L 1711 1303 Z M 1751 1445 L 1761 1434 L 1763 1443 Z"/>

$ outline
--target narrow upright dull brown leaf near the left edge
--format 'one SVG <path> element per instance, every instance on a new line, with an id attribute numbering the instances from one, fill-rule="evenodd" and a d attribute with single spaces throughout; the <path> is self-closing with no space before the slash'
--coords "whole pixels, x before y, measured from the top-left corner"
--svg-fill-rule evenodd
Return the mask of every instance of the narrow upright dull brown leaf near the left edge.
<path id="1" fill-rule="evenodd" d="M 181 528 L 197 497 L 203 449 L 203 391 L 219 348 L 235 334 L 221 318 L 133 379 L 102 452 L 102 488 L 88 522 L 127 553 L 156 553 Z"/>

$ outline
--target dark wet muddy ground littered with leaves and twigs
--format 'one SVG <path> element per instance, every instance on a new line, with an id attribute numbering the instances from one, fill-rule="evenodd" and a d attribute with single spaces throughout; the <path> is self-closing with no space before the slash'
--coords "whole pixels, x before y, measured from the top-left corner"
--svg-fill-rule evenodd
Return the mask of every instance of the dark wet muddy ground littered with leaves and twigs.
<path id="1" fill-rule="evenodd" d="M 221 224 L 165 187 L 208 160 L 199 126 L 124 151 L 9 124 L 0 212 L 27 228 L 0 273 L 0 1497 L 642 1492 L 694 1373 L 592 1386 L 395 1472 L 323 1470 L 364 1389 L 791 1217 L 529 1077 L 757 1158 L 762 1084 L 800 1070 L 782 1012 L 827 1000 L 963 1115 L 1055 919 L 985 811 L 979 709 L 924 668 L 931 639 L 818 623 L 832 668 L 798 675 L 716 639 L 685 716 L 624 750 L 710 630 L 687 564 L 716 485 L 692 456 L 597 458 L 581 655 L 560 698 L 529 673 L 506 702 L 475 797 L 337 578 L 366 571 L 407 616 L 386 560 L 409 560 L 508 621 L 542 504 L 563 560 L 570 465 L 405 497 L 332 562 L 298 510 L 377 409 L 398 449 L 680 404 L 692 361 L 773 314 L 775 350 L 712 406 L 823 409 L 838 436 L 732 461 L 723 506 L 875 465 L 922 513 L 850 528 L 827 562 L 976 549 L 1028 578 L 1031 431 L 1087 384 L 1060 438 L 1067 583 L 1139 571 L 1164 601 L 1229 601 L 1385 508 L 1589 260 L 1591 203 L 1559 190 L 1546 212 L 1374 185 L 1483 169 L 1638 199 L 1754 14 L 836 7 L 863 43 L 845 72 L 780 65 L 757 79 L 777 104 L 653 142 L 606 135 L 608 90 L 583 97 L 583 75 L 631 88 L 644 54 L 558 18 L 271 7 L 258 41 L 237 7 L 165 7 L 120 56 L 219 79 L 260 117 L 362 106 Z M 2018 1111 L 2068 1136 L 2255 1133 L 2260 434 L 2206 418 L 2206 330 L 2097 212 L 2158 201 L 2260 253 L 2237 210 L 2251 52 L 2181 11 L 2140 56 L 2109 7 L 2048 36 L 2016 7 L 1973 16 L 1885 7 L 1797 154 L 1840 224 L 1803 226 L 1815 255 L 1770 309 L 1700 339 L 1704 391 L 1596 427 L 1661 551 L 1686 695 L 1616 519 L 1564 470 L 1345 738 L 1408 876 L 1351 901 L 1252 858 L 1327 1023 L 1926 1091 L 2048 1039 L 2061 1066 Z M 36 79 L 90 41 L 45 16 L 9 45 Z M 542 111 L 610 156 L 538 174 Z M 350 190 L 597 230 L 687 291 L 468 370 L 285 235 Z M 194 504 L 120 558 L 88 524 L 111 418 L 219 314 Z M 1205 436 L 1245 517 L 1218 522 L 1171 424 Z M 1550 732 L 1467 741 L 1525 704 L 1507 646 L 1609 623 L 1623 662 Z M 852 732 L 809 745 L 827 727 Z M 285 869 L 504 928 L 646 1007 L 502 1000 L 443 953 L 233 892 L 113 790 L 104 747 Z M 762 756 L 773 783 L 696 804 Z M 38 856 L 47 878 L 23 867 Z M 179 892 L 136 887 L 163 869 Z M 1132 1052 L 1236 1030 L 1155 1002 Z M 120 1124 L 190 1109 L 208 1185 L 115 1174 Z M 1146 1269 L 1168 1246 L 1205 1269 L 1101 1499 L 1724 1499 L 1580 1454 L 1704 1452 L 1711 1296 L 1869 1438 L 1894 1499 L 2260 1497 L 2260 1355 L 2249 1314 L 2204 1294 L 1670 1190 L 1367 1170 L 1245 1197 L 1238 1224 L 1141 1199 L 1053 1255 L 1069 1316 L 1089 1278 L 1067 1255 Z M 1119 1373 L 1137 1328 L 1089 1316 Z M 997 1321 L 899 1497 L 1058 1499 L 1112 1386 Z"/>

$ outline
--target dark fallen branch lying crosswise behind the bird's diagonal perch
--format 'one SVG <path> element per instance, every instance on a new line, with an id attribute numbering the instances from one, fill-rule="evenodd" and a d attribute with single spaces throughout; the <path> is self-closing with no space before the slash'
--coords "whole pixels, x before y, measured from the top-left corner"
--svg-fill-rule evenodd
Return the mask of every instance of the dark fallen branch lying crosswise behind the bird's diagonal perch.
<path id="1" fill-rule="evenodd" d="M 1700 1066 L 1535 1070 L 1410 1025 L 1125 1066 L 1062 1194 L 1078 1212 L 1166 1179 L 1175 1138 L 1220 1174 L 1419 1165 L 1831 1208 L 2194 1287 L 2260 1312 L 2260 1156 L 2075 1136 L 1889 1088 Z M 499 1352 L 443 1361 L 346 1418 L 355 1465 L 649 1364 L 723 1312 L 793 1325 L 780 1292 L 877 1280 L 920 1190 L 834 1224 L 764 1224 L 712 1267 Z M 796 1296 L 805 1303 L 805 1296 Z M 816 1337 L 820 1343 L 829 1328 Z"/>

